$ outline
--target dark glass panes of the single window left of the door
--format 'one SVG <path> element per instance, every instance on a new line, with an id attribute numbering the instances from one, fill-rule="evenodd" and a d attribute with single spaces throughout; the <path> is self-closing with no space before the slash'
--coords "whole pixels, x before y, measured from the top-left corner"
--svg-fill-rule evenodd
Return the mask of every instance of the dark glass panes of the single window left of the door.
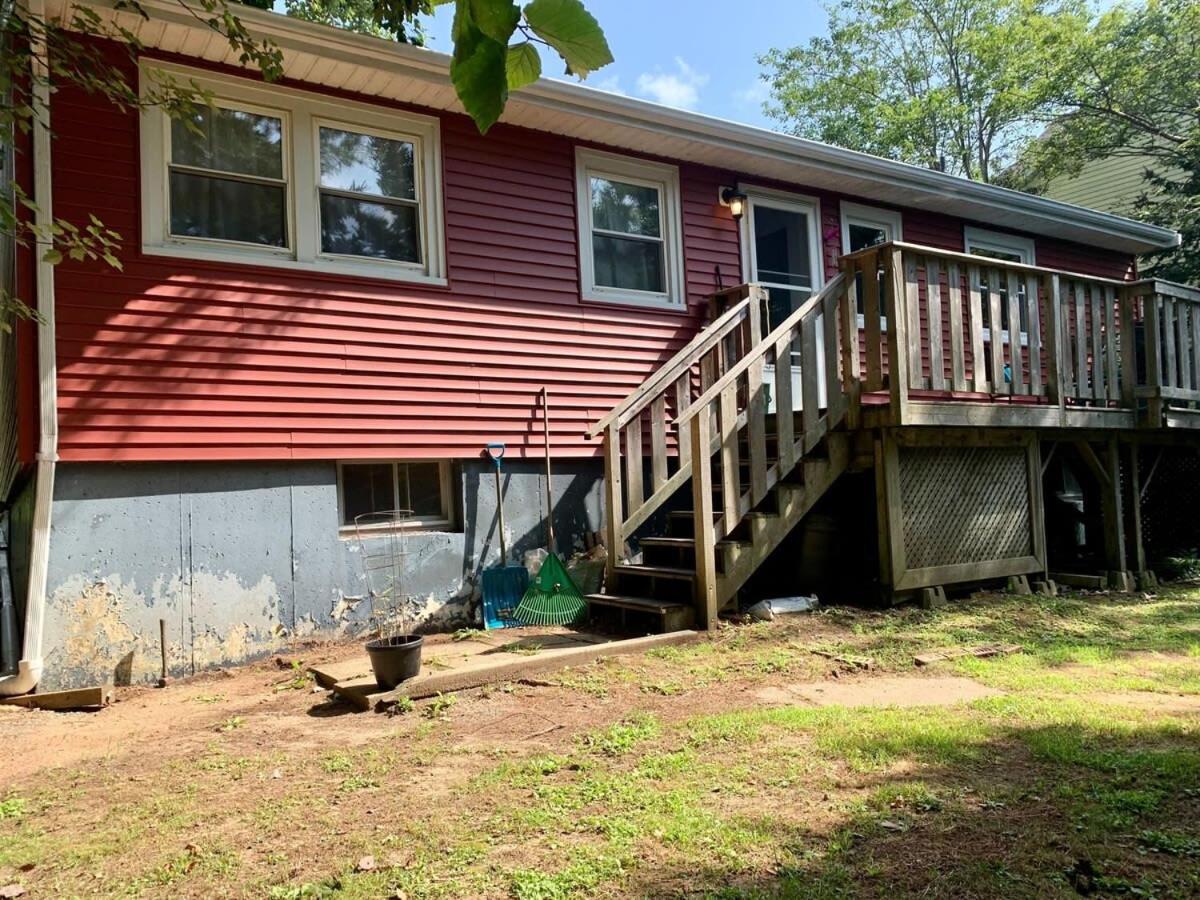
<path id="1" fill-rule="evenodd" d="M 604 175 L 588 179 L 592 259 L 599 287 L 664 294 L 662 192 Z"/>

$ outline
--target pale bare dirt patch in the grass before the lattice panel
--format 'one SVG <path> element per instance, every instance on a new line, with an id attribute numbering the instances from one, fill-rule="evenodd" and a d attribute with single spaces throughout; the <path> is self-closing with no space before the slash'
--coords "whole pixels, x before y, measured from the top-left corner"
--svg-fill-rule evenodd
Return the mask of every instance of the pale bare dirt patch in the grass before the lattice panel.
<path id="1" fill-rule="evenodd" d="M 817 707 L 948 707 L 1003 691 L 970 678 L 880 677 L 860 682 L 815 682 L 763 688 L 755 696 L 763 703 L 809 703 Z"/>

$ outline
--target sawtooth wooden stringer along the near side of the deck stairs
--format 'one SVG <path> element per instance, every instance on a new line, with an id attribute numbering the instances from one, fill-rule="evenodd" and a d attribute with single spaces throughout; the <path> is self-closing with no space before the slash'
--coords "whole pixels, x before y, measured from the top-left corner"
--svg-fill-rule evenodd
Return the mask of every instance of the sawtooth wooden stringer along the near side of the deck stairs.
<path id="1" fill-rule="evenodd" d="M 797 466 L 803 466 L 804 482 L 793 485 L 779 482 L 773 488 L 776 492 L 779 511 L 774 514 L 750 512 L 750 545 L 740 546 L 733 552 L 731 565 L 716 577 L 716 605 L 725 608 L 732 602 L 738 590 L 750 580 L 758 566 L 791 534 L 800 520 L 809 514 L 826 492 L 850 468 L 850 436 L 835 432 L 827 436 L 827 456 L 823 458 L 803 458 Z"/>

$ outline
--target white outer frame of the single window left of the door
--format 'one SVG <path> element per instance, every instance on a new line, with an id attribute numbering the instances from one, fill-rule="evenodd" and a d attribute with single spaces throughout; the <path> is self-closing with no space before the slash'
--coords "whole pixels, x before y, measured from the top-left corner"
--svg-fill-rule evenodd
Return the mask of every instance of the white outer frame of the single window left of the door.
<path id="1" fill-rule="evenodd" d="M 666 290 L 629 290 L 595 282 L 595 257 L 592 247 L 593 176 L 653 187 L 659 191 L 659 215 L 662 230 L 662 274 Z M 576 148 L 575 198 L 580 245 L 582 296 L 587 301 L 626 304 L 678 310 L 688 308 L 683 280 L 683 212 L 679 202 L 679 169 L 666 163 L 648 162 L 600 150 Z"/>

